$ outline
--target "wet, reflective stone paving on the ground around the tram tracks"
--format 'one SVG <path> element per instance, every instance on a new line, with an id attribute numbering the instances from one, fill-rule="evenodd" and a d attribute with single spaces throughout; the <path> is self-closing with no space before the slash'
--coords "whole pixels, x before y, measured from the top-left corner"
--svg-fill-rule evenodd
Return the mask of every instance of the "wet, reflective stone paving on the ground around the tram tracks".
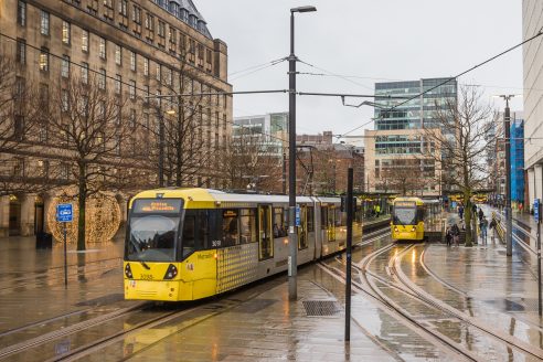
<path id="1" fill-rule="evenodd" d="M 121 238 L 92 245 L 86 253 L 71 248 L 67 288 L 63 284 L 62 247 L 36 251 L 34 242 L 30 237 L 0 239 L 0 334 L 98 305 L 109 308 L 114 304 L 134 304 L 123 301 L 121 268 L 114 264 L 102 269 L 93 267 L 115 258 L 120 265 Z M 471 313 L 500 320 L 496 317 L 514 312 L 518 323 L 528 320 L 540 324 L 533 305 L 536 281 L 528 273 L 533 265 L 521 267 L 520 263 L 526 263 L 521 260 L 522 251 L 515 248 L 514 253 L 514 273 L 507 266 L 504 248 L 499 243 L 471 248 L 432 244 L 425 260 L 436 275 L 472 297 Z M 51 274 L 52 268 L 61 272 Z M 464 273 L 466 269 L 470 273 Z M 311 315 L 308 301 L 333 302 L 339 312 L 326 316 L 322 308 L 316 308 L 317 315 Z M 435 354 L 417 350 L 419 337 L 414 331 L 400 331 L 397 322 L 365 295 L 356 292 L 351 342 L 345 344 L 343 306 L 344 285 L 317 265 L 306 266 L 299 270 L 296 302 L 288 301 L 288 283 L 284 277 L 284 281 L 245 306 L 177 332 L 175 338 L 167 339 L 168 347 L 153 341 L 140 359 L 164 361 L 167 355 L 183 353 L 191 361 L 397 361 L 402 355 L 394 352 L 394 343 L 418 353 L 414 354 L 418 359 L 436 359 Z"/>

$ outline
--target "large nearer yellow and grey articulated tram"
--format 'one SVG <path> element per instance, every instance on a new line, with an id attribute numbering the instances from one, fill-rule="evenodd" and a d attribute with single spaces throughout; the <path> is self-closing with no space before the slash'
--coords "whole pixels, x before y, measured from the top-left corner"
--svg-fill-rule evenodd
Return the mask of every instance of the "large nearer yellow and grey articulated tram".
<path id="1" fill-rule="evenodd" d="M 298 196 L 298 264 L 345 248 L 340 198 Z M 362 236 L 362 214 L 353 239 Z M 288 196 L 160 189 L 129 203 L 126 299 L 195 300 L 288 267 Z"/>

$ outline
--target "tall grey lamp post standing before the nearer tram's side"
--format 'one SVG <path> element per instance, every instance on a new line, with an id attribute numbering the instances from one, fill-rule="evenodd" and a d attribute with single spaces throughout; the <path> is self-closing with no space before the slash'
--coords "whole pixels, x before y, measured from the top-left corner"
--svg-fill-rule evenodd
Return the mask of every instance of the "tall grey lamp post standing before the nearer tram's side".
<path id="1" fill-rule="evenodd" d="M 295 13 L 317 11 L 315 7 L 299 7 L 290 9 L 290 55 L 288 56 L 288 298 L 297 300 L 297 263 L 298 263 L 298 234 L 296 227 L 296 62 L 295 55 Z"/>

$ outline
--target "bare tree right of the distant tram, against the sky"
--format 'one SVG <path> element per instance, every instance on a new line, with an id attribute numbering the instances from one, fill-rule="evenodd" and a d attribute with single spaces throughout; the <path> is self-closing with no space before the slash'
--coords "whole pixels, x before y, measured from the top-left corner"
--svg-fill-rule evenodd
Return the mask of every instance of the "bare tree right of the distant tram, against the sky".
<path id="1" fill-rule="evenodd" d="M 493 143 L 494 113 L 489 104 L 481 102 L 481 93 L 473 86 L 460 87 L 458 102 L 450 100 L 445 107 L 436 108 L 435 126 L 441 132 L 425 129 L 424 136 L 438 152 L 432 152 L 428 147 L 426 156 L 434 157 L 443 170 L 443 181 L 464 194 L 466 246 L 471 246 L 471 195 L 485 187 L 489 177 L 486 153 Z"/>

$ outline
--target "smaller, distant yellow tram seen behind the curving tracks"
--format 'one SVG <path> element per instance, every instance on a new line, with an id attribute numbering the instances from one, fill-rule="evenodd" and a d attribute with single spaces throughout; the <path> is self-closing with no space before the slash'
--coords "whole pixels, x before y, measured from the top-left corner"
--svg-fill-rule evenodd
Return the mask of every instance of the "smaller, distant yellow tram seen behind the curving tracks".
<path id="1" fill-rule="evenodd" d="M 441 206 L 438 200 L 396 198 L 393 201 L 391 233 L 394 241 L 422 241 L 440 234 Z"/>

